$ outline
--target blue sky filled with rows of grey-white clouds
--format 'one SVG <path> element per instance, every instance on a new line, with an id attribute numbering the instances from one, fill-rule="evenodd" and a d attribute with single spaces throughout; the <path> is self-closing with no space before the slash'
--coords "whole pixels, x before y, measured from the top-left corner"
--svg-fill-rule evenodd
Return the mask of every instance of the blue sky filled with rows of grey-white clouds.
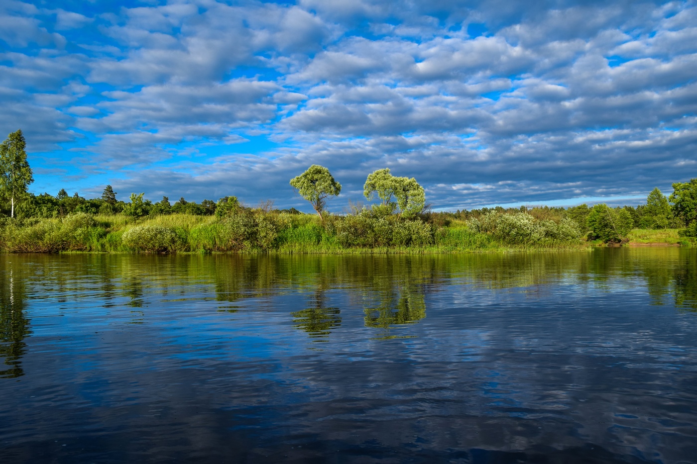
<path id="1" fill-rule="evenodd" d="M 365 202 L 645 203 L 697 177 L 696 1 L 0 2 L 0 137 L 35 194 L 113 185 L 311 212 Z"/>

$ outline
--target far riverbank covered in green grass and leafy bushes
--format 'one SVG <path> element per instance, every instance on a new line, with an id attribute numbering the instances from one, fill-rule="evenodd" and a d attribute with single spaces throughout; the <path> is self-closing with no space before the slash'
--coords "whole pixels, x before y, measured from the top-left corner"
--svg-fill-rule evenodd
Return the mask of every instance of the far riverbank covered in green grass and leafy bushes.
<path id="1" fill-rule="evenodd" d="M 510 226 L 510 224 L 509 224 Z M 426 254 L 579 250 L 602 246 L 551 221 L 522 229 L 473 231 L 465 221 L 432 224 L 361 215 L 332 216 L 251 211 L 234 217 L 158 215 L 137 221 L 123 215 L 77 213 L 63 219 L 6 219 L 0 251 L 10 253 L 279 253 Z M 522 227 L 522 226 L 520 226 Z M 624 246 L 694 246 L 677 229 L 634 229 Z"/>

